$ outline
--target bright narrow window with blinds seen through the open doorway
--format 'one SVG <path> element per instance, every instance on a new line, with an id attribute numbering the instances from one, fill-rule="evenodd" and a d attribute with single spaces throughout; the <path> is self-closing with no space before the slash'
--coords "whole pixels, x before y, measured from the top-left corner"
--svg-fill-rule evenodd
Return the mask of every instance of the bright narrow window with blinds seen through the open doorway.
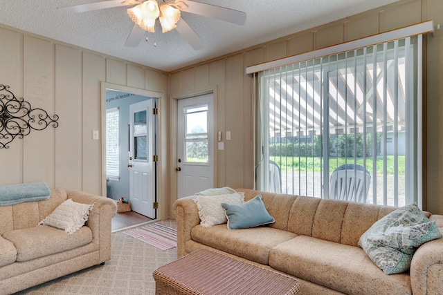
<path id="1" fill-rule="evenodd" d="M 106 174 L 110 180 L 118 180 L 118 108 L 106 110 Z"/>

